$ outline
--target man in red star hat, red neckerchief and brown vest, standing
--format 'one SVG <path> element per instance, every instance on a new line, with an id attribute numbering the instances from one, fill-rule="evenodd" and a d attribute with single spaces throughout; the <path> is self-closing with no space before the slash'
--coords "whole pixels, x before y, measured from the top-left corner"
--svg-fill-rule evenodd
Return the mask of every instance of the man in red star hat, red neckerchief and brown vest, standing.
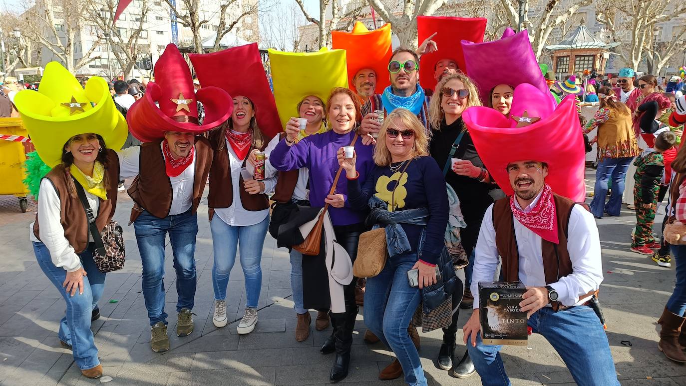
<path id="1" fill-rule="evenodd" d="M 196 295 L 197 209 L 214 152 L 200 136 L 222 124 L 233 110 L 226 91 L 203 87 L 193 93 L 187 62 L 176 45 L 169 44 L 155 63 L 155 81 L 126 114 L 132 134 L 141 146 L 120 155 L 121 178 L 135 177 L 128 189 L 134 201 L 131 222 L 143 263 L 143 299 L 150 319 L 150 348 L 169 350 L 165 313 L 165 239 L 169 234 L 176 271 L 176 335 L 193 332 L 192 309 Z M 206 107 L 198 123 L 200 101 Z"/>

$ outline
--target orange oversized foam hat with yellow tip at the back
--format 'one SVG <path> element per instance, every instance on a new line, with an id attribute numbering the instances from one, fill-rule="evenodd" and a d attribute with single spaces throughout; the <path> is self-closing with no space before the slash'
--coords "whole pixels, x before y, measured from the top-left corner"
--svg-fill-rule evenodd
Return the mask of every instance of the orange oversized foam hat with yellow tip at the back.
<path id="1" fill-rule="evenodd" d="M 346 50 L 348 84 L 355 90 L 355 74 L 362 69 L 372 69 L 377 75 L 377 94 L 390 86 L 388 62 L 392 56 L 390 24 L 370 31 L 362 22 L 355 22 L 353 32 L 331 31 L 331 47 Z"/>

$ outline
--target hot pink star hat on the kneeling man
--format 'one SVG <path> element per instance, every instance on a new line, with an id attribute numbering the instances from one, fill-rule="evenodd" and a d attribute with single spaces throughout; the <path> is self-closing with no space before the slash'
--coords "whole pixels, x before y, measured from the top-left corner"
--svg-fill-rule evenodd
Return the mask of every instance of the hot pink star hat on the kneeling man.
<path id="1" fill-rule="evenodd" d="M 573 95 L 555 106 L 549 91 L 523 83 L 514 88 L 510 119 L 483 106 L 462 117 L 488 173 L 506 194 L 512 194 L 508 163 L 536 160 L 548 164 L 545 182 L 552 191 L 584 201 L 584 139 Z"/>

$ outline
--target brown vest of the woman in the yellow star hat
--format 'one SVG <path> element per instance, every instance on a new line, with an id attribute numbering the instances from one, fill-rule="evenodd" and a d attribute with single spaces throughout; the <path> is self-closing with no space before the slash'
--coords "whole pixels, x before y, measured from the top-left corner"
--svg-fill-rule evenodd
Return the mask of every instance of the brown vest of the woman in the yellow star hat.
<path id="1" fill-rule="evenodd" d="M 78 193 L 74 191 L 74 184 L 71 177 L 67 179 L 64 173 L 64 165 L 60 164 L 52 168 L 44 177 L 55 186 L 58 197 L 60 197 L 60 223 L 64 228 L 64 237 L 69 241 L 76 253 L 81 253 L 88 247 L 88 219 Z M 117 184 L 119 184 L 119 156 L 112 149 L 107 149 L 107 169 L 105 172 L 105 186 L 107 187 L 107 200 L 99 200 L 95 224 L 97 230 L 102 232 L 107 224 L 112 220 L 117 208 Z M 70 194 L 71 192 L 71 194 Z M 38 214 L 34 223 L 34 235 L 40 240 L 40 226 L 38 225 Z"/>

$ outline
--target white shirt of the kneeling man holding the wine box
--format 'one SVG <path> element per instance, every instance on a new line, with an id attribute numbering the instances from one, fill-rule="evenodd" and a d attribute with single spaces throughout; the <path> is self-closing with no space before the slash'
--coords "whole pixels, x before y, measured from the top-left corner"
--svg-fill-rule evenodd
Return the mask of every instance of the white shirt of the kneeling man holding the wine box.
<path id="1" fill-rule="evenodd" d="M 536 205 L 541 193 L 523 210 L 525 213 Z M 514 202 L 519 208 L 516 199 Z M 514 215 L 512 217 L 514 218 L 514 236 L 517 238 L 517 252 L 519 252 L 519 280 L 527 287 L 545 287 L 541 237 L 523 226 L 517 217 Z M 550 287 L 557 291 L 560 303 L 571 306 L 583 304 L 589 300 L 590 296 L 579 297 L 600 288 L 603 276 L 600 237 L 593 215 L 582 206 L 574 205 L 569 215 L 567 231 L 567 251 L 571 260 L 572 273 L 550 284 Z M 484 215 L 475 249 L 471 285 L 475 309 L 479 308 L 479 282 L 493 281 L 498 259 L 493 227 L 493 204 L 491 204 Z"/>

